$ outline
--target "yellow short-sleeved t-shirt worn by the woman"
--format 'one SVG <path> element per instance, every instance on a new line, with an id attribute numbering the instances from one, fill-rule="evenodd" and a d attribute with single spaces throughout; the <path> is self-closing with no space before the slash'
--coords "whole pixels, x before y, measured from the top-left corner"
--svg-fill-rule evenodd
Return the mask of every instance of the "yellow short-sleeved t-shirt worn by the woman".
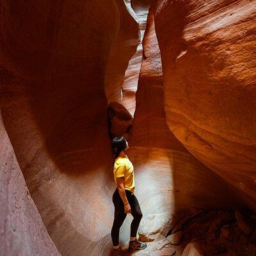
<path id="1" fill-rule="evenodd" d="M 124 177 L 124 188 L 132 193 L 135 189 L 135 179 L 133 165 L 127 156 L 117 157 L 114 164 L 114 177 Z"/>

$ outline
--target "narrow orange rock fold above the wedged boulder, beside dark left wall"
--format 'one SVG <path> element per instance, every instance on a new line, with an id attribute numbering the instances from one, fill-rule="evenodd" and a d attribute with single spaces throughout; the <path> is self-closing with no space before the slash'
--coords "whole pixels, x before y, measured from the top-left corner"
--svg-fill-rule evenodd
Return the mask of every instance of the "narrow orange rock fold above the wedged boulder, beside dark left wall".
<path id="1" fill-rule="evenodd" d="M 131 6 L 131 1 L 116 1 L 118 5 L 118 33 L 109 52 L 105 72 L 105 90 L 109 102 L 123 102 L 122 86 L 125 70 L 129 61 L 136 54 L 140 43 L 140 25 L 138 17 Z M 138 63 L 140 68 L 140 63 Z M 134 108 L 134 106 L 133 106 Z"/>

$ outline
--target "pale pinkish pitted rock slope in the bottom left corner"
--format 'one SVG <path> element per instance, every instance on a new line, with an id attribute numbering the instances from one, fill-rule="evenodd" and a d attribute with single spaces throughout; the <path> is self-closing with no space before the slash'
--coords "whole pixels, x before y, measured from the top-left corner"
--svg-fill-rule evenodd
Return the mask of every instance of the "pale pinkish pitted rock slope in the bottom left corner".
<path id="1" fill-rule="evenodd" d="M 45 230 L 0 111 L 0 255 L 60 255 Z"/>

